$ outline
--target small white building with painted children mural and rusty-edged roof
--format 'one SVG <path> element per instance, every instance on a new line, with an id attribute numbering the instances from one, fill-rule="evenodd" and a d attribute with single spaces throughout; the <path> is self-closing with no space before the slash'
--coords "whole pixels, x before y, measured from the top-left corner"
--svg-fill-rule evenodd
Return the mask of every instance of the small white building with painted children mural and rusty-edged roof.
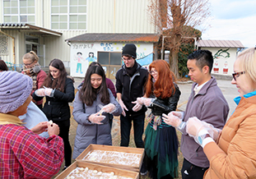
<path id="1" fill-rule="evenodd" d="M 147 67 L 156 52 L 157 34 L 81 34 L 67 43 L 71 46 L 71 76 L 85 76 L 91 62 L 100 62 L 105 68 L 106 76 L 114 79 L 122 65 L 121 53 L 124 44 L 133 43 L 137 46 L 137 62 Z"/>

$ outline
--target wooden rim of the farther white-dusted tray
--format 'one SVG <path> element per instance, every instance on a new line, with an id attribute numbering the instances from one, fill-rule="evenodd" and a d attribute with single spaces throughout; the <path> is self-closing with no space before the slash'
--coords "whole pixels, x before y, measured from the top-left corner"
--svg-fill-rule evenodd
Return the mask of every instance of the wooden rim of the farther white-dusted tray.
<path id="1" fill-rule="evenodd" d="M 104 151 L 115 151 L 115 152 L 123 152 L 123 153 L 130 153 L 130 154 L 141 154 L 142 157 L 140 158 L 140 162 L 137 166 L 130 166 L 130 165 L 122 165 L 122 164 L 116 164 L 116 163 L 103 163 L 103 162 L 95 162 L 91 160 L 83 160 L 84 157 L 86 157 L 86 154 L 88 154 L 92 150 L 104 150 Z M 110 145 L 89 145 L 77 158 L 77 161 L 81 162 L 87 162 L 87 163 L 97 163 L 100 165 L 109 166 L 112 168 L 120 168 L 125 169 L 133 172 L 140 172 L 140 169 L 142 167 L 142 161 L 144 158 L 144 149 L 142 148 L 131 148 L 131 147 L 118 147 L 118 146 L 110 146 Z"/>

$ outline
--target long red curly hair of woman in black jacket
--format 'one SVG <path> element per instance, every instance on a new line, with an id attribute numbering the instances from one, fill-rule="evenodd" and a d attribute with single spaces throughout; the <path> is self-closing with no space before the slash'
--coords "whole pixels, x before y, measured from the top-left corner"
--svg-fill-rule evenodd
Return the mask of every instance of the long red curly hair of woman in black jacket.
<path id="1" fill-rule="evenodd" d="M 158 77 L 153 84 L 153 77 L 149 74 L 145 87 L 147 98 L 152 94 L 152 89 L 156 98 L 161 97 L 161 99 L 165 99 L 175 94 L 175 74 L 170 71 L 170 65 L 165 60 L 156 60 L 149 65 L 149 71 L 152 68 L 156 69 Z"/>

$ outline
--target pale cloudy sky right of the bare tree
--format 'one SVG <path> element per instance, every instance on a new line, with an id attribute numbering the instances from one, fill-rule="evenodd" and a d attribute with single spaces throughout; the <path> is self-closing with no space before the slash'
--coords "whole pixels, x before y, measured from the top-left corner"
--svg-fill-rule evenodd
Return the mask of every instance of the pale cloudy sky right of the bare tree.
<path id="1" fill-rule="evenodd" d="M 211 17 L 205 21 L 203 28 L 206 30 L 202 30 L 202 39 L 240 40 L 244 47 L 256 46 L 255 0 L 209 2 Z"/>

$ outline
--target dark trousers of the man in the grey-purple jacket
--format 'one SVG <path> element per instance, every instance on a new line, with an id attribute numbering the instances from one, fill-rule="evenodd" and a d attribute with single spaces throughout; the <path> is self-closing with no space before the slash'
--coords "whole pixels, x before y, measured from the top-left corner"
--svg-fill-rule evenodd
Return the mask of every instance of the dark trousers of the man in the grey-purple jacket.
<path id="1" fill-rule="evenodd" d="M 184 158 L 181 169 L 182 179 L 202 179 L 208 168 L 199 168 Z"/>

